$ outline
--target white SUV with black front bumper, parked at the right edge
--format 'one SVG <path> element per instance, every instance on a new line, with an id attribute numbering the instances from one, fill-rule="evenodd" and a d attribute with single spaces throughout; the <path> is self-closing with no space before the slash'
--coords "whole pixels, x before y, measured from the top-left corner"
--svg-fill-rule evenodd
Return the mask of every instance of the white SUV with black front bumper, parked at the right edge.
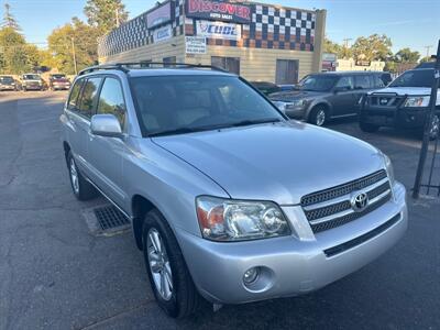
<path id="1" fill-rule="evenodd" d="M 360 127 L 376 132 L 381 127 L 422 131 L 429 112 L 435 70 L 418 68 L 398 76 L 387 88 L 369 92 L 362 100 Z M 435 139 L 440 128 L 440 91 L 436 113 L 430 123 Z"/>

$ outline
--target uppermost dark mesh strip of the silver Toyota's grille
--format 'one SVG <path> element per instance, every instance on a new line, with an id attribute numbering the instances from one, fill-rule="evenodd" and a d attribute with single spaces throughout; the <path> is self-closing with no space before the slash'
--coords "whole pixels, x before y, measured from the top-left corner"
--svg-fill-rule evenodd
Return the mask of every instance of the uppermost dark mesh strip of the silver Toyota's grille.
<path id="1" fill-rule="evenodd" d="M 364 176 L 360 179 L 352 180 L 350 183 L 346 183 L 346 184 L 343 184 L 340 186 L 336 186 L 333 188 L 329 188 L 329 189 L 324 189 L 324 190 L 320 190 L 317 193 L 306 195 L 301 198 L 301 206 L 306 207 L 309 205 L 331 200 L 331 199 L 344 196 L 346 194 L 351 194 L 354 190 L 360 190 L 360 189 L 366 188 L 384 178 L 386 178 L 386 172 L 385 172 L 385 169 L 381 169 L 371 175 Z"/>

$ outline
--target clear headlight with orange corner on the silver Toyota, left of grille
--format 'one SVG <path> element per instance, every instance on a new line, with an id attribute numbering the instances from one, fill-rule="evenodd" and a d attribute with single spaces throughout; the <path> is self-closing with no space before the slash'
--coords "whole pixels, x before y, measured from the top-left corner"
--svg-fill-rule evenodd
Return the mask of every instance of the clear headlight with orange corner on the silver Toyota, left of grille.
<path id="1" fill-rule="evenodd" d="M 200 196 L 196 199 L 201 234 L 212 241 L 243 241 L 290 234 L 272 201 L 245 201 Z"/>

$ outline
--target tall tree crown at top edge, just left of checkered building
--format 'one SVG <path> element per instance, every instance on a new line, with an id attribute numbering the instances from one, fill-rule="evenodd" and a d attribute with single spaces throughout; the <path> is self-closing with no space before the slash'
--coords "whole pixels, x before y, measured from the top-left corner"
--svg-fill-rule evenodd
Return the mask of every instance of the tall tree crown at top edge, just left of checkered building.
<path id="1" fill-rule="evenodd" d="M 99 29 L 100 35 L 107 34 L 129 19 L 129 13 L 121 0 L 87 0 L 84 13 L 87 22 Z"/>

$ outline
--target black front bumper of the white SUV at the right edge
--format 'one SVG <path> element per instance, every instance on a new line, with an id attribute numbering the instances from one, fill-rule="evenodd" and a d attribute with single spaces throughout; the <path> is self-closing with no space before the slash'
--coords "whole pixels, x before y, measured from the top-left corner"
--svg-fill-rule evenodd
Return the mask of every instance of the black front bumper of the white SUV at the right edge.
<path id="1" fill-rule="evenodd" d="M 365 108 L 362 110 L 361 120 L 380 127 L 396 129 L 422 129 L 428 116 L 428 108 Z"/>

